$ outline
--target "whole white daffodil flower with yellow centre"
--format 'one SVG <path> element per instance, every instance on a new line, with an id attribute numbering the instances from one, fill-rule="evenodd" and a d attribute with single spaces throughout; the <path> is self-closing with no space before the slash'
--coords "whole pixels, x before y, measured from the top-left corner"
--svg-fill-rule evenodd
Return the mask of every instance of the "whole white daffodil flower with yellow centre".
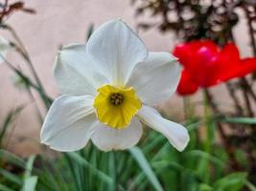
<path id="1" fill-rule="evenodd" d="M 58 151 L 76 151 L 91 138 L 103 151 L 127 149 L 142 136 L 142 123 L 182 151 L 189 135 L 151 106 L 176 89 L 180 66 L 170 53 L 148 53 L 122 20 L 93 32 L 87 44 L 63 48 L 55 77 L 63 96 L 51 106 L 41 142 Z"/>

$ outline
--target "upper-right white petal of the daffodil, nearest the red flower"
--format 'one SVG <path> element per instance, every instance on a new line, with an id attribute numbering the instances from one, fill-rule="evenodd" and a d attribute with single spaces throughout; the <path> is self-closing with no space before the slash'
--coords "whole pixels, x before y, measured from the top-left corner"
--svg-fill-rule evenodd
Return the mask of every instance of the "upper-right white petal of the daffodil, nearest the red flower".
<path id="1" fill-rule="evenodd" d="M 149 53 L 145 62 L 137 64 L 128 86 L 147 105 L 160 103 L 175 93 L 180 78 L 180 66 L 171 53 Z"/>

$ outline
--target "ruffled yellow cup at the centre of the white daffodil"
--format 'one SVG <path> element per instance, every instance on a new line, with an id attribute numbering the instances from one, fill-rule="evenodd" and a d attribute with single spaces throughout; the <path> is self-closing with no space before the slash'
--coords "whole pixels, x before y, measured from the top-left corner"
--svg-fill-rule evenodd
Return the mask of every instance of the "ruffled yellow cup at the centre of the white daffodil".
<path id="1" fill-rule="evenodd" d="M 115 129 L 128 127 L 130 120 L 142 106 L 132 87 L 120 88 L 104 85 L 97 90 L 98 96 L 94 99 L 94 108 L 98 119 Z"/>

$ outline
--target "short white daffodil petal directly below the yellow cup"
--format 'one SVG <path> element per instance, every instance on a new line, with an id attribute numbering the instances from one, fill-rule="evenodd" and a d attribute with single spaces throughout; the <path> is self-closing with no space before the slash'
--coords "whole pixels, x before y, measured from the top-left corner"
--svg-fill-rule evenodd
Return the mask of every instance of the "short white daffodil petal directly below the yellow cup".
<path id="1" fill-rule="evenodd" d="M 133 118 L 125 129 L 114 129 L 99 124 L 93 135 L 93 143 L 103 151 L 124 150 L 134 146 L 142 136 L 142 125 Z"/>

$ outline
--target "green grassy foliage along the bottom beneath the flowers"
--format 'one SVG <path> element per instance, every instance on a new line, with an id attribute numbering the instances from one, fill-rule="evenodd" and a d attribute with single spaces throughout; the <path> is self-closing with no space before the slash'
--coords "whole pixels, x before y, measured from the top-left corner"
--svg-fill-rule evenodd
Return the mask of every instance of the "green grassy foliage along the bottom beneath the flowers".
<path id="1" fill-rule="evenodd" d="M 193 126 L 191 135 L 197 133 L 197 124 L 195 120 L 188 123 Z M 150 131 L 139 147 L 128 151 L 104 153 L 90 144 L 79 152 L 55 158 L 32 156 L 27 161 L 1 150 L 0 190 L 255 190 L 246 173 L 229 173 L 221 145 L 211 142 L 209 153 L 203 151 L 205 141 L 193 136 L 191 141 L 180 153 L 166 138 Z M 20 173 L 7 171 L 7 161 Z"/>

